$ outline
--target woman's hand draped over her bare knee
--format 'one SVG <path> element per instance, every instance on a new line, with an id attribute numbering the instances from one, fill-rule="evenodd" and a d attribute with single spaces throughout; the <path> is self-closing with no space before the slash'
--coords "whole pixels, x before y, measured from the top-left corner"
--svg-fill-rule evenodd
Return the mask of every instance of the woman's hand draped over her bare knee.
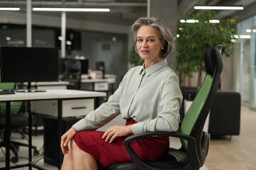
<path id="1" fill-rule="evenodd" d="M 60 147 L 62 149 L 63 154 L 67 154 L 69 152 L 68 144 L 69 141 L 72 140 L 74 135 L 76 135 L 77 130 L 74 127 L 71 127 L 64 135 L 61 137 Z"/>

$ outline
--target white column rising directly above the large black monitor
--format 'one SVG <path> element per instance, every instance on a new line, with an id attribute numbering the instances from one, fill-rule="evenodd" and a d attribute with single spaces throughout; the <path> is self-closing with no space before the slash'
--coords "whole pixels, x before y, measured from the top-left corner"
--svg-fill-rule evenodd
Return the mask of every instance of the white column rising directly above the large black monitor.
<path id="1" fill-rule="evenodd" d="M 27 0 L 27 47 L 32 47 L 31 0 Z"/>

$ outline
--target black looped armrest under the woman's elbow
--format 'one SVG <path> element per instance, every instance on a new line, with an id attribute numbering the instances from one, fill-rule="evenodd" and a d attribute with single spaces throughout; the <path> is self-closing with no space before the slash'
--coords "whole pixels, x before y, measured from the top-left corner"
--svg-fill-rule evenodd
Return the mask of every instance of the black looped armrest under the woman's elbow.
<path id="1" fill-rule="evenodd" d="M 131 135 L 130 137 L 127 137 L 126 140 L 124 140 L 124 145 L 126 147 L 126 150 L 128 154 L 130 154 L 131 159 L 133 159 L 133 162 L 136 164 L 138 169 L 156 170 L 156 168 L 152 166 L 148 166 L 142 160 L 140 160 L 138 155 L 134 152 L 133 148 L 130 146 L 130 143 L 133 142 L 133 140 L 138 140 L 140 138 L 150 137 L 150 136 L 169 136 L 169 137 L 178 137 L 180 139 L 187 140 L 188 142 L 187 154 L 189 157 L 189 162 L 191 164 L 194 164 L 194 166 L 200 167 L 199 157 L 196 151 L 196 140 L 194 139 L 194 137 L 191 137 L 189 135 L 184 135 L 180 132 L 143 132 L 143 133 Z"/>

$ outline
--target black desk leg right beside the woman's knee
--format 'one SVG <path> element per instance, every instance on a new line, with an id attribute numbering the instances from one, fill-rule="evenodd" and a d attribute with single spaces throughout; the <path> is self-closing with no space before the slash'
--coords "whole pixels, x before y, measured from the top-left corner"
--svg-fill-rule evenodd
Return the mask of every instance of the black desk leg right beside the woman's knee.
<path id="1" fill-rule="evenodd" d="M 57 100 L 57 139 L 58 142 L 60 144 L 60 138 L 62 136 L 62 99 L 58 99 Z M 59 160 L 59 164 L 58 164 L 58 169 L 61 168 L 62 165 L 62 150 L 60 145 L 59 146 L 59 154 L 58 154 L 58 160 Z"/>

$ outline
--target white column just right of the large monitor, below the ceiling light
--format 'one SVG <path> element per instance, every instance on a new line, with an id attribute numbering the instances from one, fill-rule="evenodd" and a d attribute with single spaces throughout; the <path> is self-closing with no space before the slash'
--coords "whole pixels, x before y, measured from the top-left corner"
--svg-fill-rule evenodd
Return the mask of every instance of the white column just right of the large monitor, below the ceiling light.
<path id="1" fill-rule="evenodd" d="M 62 58 L 66 57 L 66 12 L 62 12 L 61 16 L 61 56 Z"/>

